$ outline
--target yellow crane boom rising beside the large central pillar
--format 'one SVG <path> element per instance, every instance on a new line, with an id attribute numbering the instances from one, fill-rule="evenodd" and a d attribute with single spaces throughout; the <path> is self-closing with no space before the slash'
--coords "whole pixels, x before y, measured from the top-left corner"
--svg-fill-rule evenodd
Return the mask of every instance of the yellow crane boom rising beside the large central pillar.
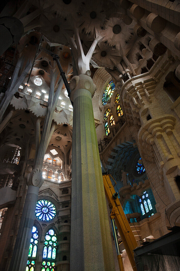
<path id="1" fill-rule="evenodd" d="M 102 173 L 103 182 L 104 182 L 104 190 L 106 199 L 109 204 L 109 208 L 111 209 L 110 218 L 111 221 L 115 220 L 116 226 L 118 228 L 119 234 L 121 235 L 122 242 L 124 244 L 126 253 L 128 255 L 129 261 L 131 263 L 132 269 L 137 271 L 136 264 L 134 261 L 134 252 L 133 250 L 138 246 L 134 234 L 131 230 L 129 222 L 126 218 L 126 215 L 122 209 L 121 203 L 118 199 L 118 193 L 115 192 L 114 186 L 112 185 L 110 174 Z M 113 226 L 113 222 L 112 222 Z M 122 257 L 118 255 L 119 268 L 121 271 L 124 270 L 122 264 Z"/>

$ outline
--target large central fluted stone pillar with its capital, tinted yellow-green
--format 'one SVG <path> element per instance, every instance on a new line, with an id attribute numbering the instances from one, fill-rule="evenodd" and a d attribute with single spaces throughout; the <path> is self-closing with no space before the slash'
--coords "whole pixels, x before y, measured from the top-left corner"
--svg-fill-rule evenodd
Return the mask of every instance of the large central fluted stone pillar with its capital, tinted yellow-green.
<path id="1" fill-rule="evenodd" d="M 112 271 L 114 258 L 92 108 L 90 76 L 71 79 L 73 90 L 71 271 Z"/>

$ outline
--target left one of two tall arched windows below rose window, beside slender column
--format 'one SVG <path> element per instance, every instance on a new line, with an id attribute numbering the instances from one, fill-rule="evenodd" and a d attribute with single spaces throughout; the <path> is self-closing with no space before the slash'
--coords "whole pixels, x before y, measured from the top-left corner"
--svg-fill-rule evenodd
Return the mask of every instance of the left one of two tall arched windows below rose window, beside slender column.
<path id="1" fill-rule="evenodd" d="M 26 271 L 35 271 L 38 241 L 39 241 L 39 233 L 38 233 L 37 228 L 33 226 Z"/>

